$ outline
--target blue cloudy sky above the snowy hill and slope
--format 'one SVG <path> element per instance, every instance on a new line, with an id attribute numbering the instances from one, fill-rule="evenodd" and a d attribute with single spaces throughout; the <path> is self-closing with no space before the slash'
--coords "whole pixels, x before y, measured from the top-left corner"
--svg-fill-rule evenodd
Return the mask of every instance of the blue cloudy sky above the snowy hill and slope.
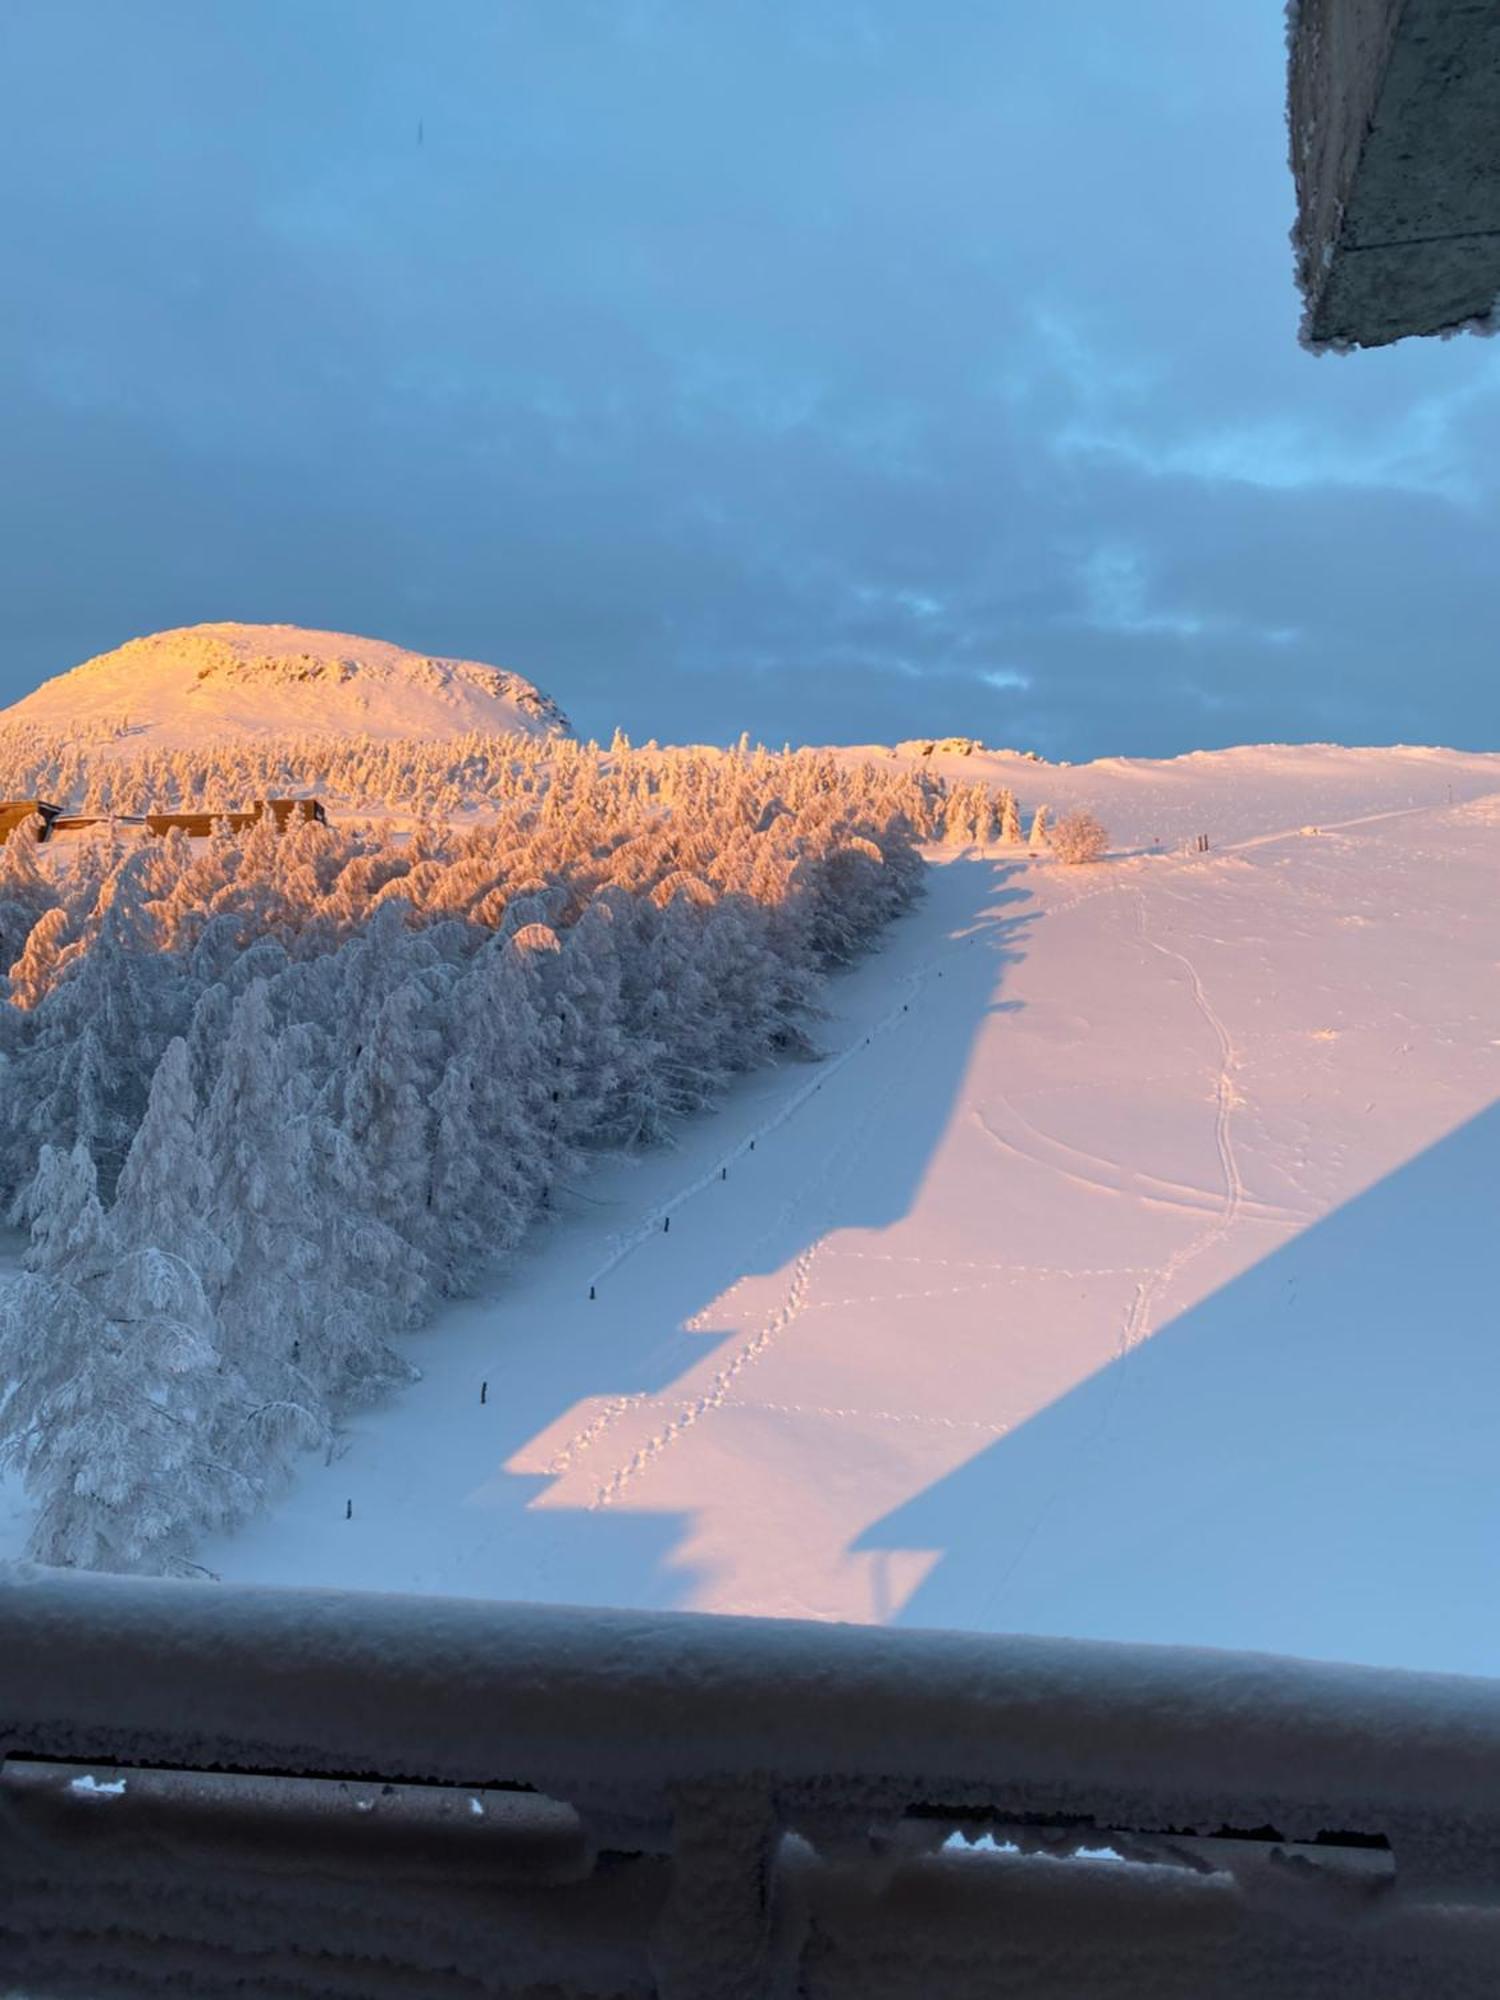
<path id="1" fill-rule="evenodd" d="M 1296 346 L 1278 0 L 6 0 L 0 700 L 1500 742 L 1500 344 Z"/>

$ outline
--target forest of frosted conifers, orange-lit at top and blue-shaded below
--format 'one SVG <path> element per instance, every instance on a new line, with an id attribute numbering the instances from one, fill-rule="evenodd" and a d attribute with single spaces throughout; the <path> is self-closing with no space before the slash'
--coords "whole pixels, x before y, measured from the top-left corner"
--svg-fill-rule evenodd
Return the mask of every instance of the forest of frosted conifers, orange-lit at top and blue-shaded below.
<path id="1" fill-rule="evenodd" d="M 306 786 L 306 750 L 106 766 L 86 796 L 238 802 Z M 812 1056 L 820 980 L 910 902 L 920 838 L 1020 836 L 984 786 L 814 752 L 316 758 L 328 788 L 410 804 L 430 780 L 484 818 L 0 848 L 0 1200 L 30 1228 L 0 1462 L 38 1560 L 188 1564 L 412 1376 L 394 1336 L 590 1154 Z M 60 768 L 28 776 L 76 802 Z"/>

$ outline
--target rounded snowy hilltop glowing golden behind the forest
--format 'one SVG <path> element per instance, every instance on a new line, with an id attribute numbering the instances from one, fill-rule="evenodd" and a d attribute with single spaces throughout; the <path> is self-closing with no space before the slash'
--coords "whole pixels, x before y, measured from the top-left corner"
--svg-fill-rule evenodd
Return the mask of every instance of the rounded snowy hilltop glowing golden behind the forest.
<path id="1" fill-rule="evenodd" d="M 130 640 L 0 710 L 0 726 L 8 722 L 86 738 L 92 756 L 248 736 L 568 732 L 562 710 L 520 674 L 274 624 L 200 624 Z"/>

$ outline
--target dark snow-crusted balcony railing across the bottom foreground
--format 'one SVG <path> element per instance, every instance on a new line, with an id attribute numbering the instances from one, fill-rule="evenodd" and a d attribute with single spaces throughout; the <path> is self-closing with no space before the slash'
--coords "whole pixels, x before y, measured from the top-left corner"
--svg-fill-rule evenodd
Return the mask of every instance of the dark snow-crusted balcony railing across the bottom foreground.
<path id="1" fill-rule="evenodd" d="M 18 1568 L 0 1752 L 34 2000 L 1500 1980 L 1478 1680 Z"/>

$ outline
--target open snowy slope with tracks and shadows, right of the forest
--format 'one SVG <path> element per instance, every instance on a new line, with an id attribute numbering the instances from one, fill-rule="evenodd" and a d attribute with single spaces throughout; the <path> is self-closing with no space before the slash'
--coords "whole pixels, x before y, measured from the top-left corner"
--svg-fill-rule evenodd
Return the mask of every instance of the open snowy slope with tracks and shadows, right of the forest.
<path id="1" fill-rule="evenodd" d="M 1500 758 L 1022 772 L 204 1564 L 1500 1672 Z"/>

